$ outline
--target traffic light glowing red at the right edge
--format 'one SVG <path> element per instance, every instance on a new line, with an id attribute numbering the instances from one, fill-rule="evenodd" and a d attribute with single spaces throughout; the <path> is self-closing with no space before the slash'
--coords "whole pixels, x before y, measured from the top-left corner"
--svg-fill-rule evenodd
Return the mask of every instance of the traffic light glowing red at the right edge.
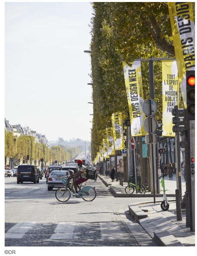
<path id="1" fill-rule="evenodd" d="M 187 120 L 195 120 L 195 70 L 186 71 Z"/>

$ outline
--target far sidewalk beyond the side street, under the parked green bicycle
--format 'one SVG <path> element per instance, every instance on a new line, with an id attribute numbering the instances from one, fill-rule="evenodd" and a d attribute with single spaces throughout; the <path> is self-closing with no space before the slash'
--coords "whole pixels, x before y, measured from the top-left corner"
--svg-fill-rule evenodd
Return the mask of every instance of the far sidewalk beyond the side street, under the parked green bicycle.
<path id="1" fill-rule="evenodd" d="M 140 194 L 134 191 L 133 194 L 126 194 L 125 193 L 125 187 L 128 185 L 127 182 L 123 182 L 123 186 L 120 185 L 120 181 L 114 180 L 114 182 L 111 181 L 111 178 L 109 176 L 101 176 L 98 175 L 98 177 L 103 181 L 103 183 L 109 187 L 110 191 L 116 196 L 116 197 L 153 197 L 153 194 L 151 192 L 146 192 L 145 194 Z M 166 195 L 170 197 L 175 197 L 175 189 L 176 189 L 176 173 L 173 173 L 172 180 L 169 180 L 168 176 L 165 178 L 165 188 L 166 188 Z M 182 176 L 182 195 L 185 193 L 185 181 Z M 156 197 L 163 197 L 163 188 L 160 183 L 160 194 L 156 194 Z"/>

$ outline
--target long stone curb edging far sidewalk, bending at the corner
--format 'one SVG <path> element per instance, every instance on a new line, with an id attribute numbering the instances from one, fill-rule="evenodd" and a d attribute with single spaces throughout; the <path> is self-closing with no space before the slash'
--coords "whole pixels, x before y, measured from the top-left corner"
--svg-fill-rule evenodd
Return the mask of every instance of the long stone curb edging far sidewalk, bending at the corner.
<path id="1" fill-rule="evenodd" d="M 115 186 L 112 186 L 111 183 L 107 183 L 100 175 L 98 177 L 102 180 L 102 182 L 109 187 L 109 190 L 116 196 L 116 197 L 153 197 L 153 194 L 126 194 L 121 193 Z M 166 194 L 169 197 L 175 197 L 175 194 Z M 163 194 L 155 194 L 155 197 L 163 197 Z"/>

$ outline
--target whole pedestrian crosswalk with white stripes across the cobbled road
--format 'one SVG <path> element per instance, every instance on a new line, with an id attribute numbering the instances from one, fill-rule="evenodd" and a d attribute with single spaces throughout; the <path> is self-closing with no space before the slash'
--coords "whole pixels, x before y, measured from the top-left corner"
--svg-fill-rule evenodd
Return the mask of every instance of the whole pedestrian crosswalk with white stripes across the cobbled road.
<path id="1" fill-rule="evenodd" d="M 125 236 L 129 239 L 132 235 L 129 230 L 123 228 L 122 222 L 95 222 L 95 223 L 77 223 L 77 222 L 59 222 L 47 224 L 36 222 L 19 222 L 13 225 L 5 233 L 5 239 L 31 239 L 35 234 L 46 233 L 49 240 L 77 240 L 80 235 L 83 239 L 103 239 L 103 240 L 124 240 Z"/>

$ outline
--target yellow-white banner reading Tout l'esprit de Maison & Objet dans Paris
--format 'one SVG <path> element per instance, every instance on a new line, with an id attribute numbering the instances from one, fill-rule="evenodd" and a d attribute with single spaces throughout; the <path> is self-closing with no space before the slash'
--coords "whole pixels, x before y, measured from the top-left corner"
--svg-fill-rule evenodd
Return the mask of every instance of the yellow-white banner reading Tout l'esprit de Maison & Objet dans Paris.
<path id="1" fill-rule="evenodd" d="M 179 81 L 176 61 L 162 61 L 163 133 L 174 137 L 172 109 L 179 103 Z"/>

